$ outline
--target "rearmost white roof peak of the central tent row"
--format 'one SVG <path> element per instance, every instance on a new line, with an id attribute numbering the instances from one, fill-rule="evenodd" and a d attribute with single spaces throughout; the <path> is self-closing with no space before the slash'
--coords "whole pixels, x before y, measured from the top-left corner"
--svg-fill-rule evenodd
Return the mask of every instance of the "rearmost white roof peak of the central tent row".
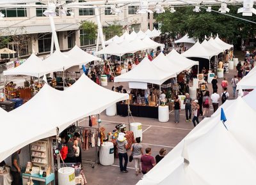
<path id="1" fill-rule="evenodd" d="M 172 51 L 168 53 L 166 57 L 170 59 L 173 64 L 179 64 L 180 66 L 182 66 L 184 70 L 192 68 L 192 66 L 198 65 L 198 61 L 187 59 L 186 57 L 180 55 L 175 49 L 172 49 Z"/>

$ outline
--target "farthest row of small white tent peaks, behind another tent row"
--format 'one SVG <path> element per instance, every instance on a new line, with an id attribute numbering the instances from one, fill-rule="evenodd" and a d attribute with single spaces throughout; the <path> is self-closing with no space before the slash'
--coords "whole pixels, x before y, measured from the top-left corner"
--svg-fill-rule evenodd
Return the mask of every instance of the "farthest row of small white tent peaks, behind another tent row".
<path id="1" fill-rule="evenodd" d="M 105 44 L 106 45 L 109 45 L 113 42 L 115 43 L 121 43 L 122 41 L 124 40 L 128 40 L 128 41 L 132 41 L 134 40 L 135 38 L 139 38 L 139 39 L 143 39 L 145 38 L 146 36 L 148 38 L 155 38 L 157 36 L 160 36 L 161 32 L 159 30 L 157 30 L 156 28 L 154 28 L 152 31 L 150 31 L 150 29 L 147 29 L 147 31 L 145 31 L 145 33 L 143 31 L 139 31 L 138 33 L 136 33 L 135 31 L 132 31 L 131 34 L 127 33 L 127 31 L 125 31 L 124 34 L 122 34 L 122 36 L 114 36 L 113 38 L 109 39 L 109 40 L 106 40 L 105 41 Z"/>

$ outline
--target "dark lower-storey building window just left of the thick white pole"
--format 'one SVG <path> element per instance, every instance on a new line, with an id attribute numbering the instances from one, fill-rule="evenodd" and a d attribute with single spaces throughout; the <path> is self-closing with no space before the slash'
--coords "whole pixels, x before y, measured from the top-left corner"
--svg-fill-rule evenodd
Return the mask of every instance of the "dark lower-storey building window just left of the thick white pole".
<path id="1" fill-rule="evenodd" d="M 38 34 L 38 52 L 49 52 L 51 51 L 51 33 L 39 33 Z"/>

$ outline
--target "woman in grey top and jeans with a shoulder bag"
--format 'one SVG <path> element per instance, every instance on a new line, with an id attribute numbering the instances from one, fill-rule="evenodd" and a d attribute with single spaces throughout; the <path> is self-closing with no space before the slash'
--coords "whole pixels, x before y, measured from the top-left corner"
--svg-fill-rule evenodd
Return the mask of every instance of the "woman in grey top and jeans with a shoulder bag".
<path id="1" fill-rule="evenodd" d="M 143 149 L 142 145 L 140 144 L 140 137 L 137 137 L 136 143 L 132 144 L 131 151 L 132 151 L 132 157 L 134 160 L 135 165 L 135 174 L 138 175 L 139 172 L 141 173 L 141 161 L 140 158 L 143 155 Z"/>

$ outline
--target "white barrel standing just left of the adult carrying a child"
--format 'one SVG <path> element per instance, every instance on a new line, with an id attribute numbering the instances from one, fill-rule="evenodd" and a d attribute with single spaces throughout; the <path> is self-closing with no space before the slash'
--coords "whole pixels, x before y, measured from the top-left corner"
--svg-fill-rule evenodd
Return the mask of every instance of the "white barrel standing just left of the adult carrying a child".
<path id="1" fill-rule="evenodd" d="M 104 142 L 100 146 L 100 165 L 109 166 L 114 163 L 114 144 L 112 142 Z"/>

